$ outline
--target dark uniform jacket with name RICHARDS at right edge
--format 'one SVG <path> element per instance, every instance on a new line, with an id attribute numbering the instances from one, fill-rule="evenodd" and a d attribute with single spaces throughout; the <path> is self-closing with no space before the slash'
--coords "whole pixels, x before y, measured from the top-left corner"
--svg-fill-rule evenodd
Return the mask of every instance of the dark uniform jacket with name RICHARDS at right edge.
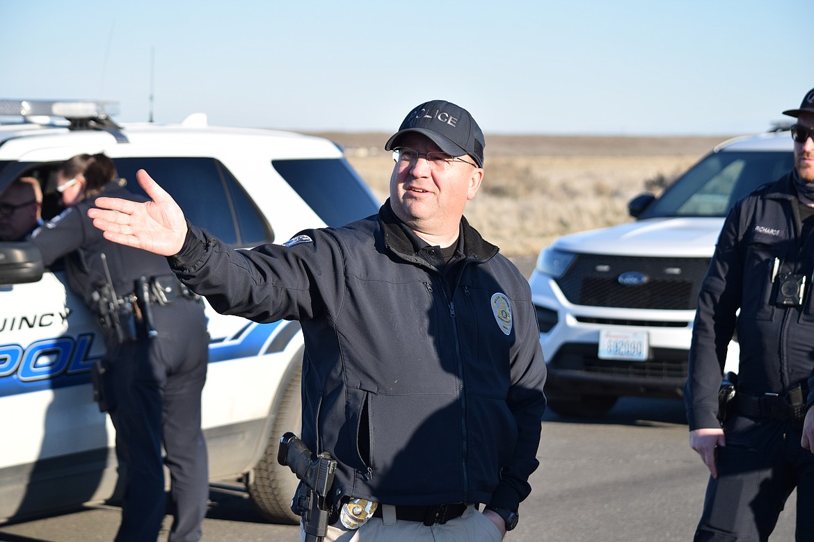
<path id="1" fill-rule="evenodd" d="M 784 394 L 812 377 L 814 236 L 801 238 L 794 175 L 791 171 L 744 197 L 724 222 L 698 298 L 689 351 L 690 430 L 720 427 L 717 392 L 736 325 L 740 391 Z M 802 306 L 777 304 L 777 276 L 785 273 L 805 276 Z"/>

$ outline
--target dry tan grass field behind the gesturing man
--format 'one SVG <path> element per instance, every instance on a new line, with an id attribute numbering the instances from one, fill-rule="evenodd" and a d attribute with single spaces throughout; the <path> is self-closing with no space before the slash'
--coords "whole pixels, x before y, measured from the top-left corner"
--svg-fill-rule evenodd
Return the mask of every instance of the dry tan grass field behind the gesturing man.
<path id="1" fill-rule="evenodd" d="M 390 134 L 321 133 L 379 199 L 392 171 Z M 628 201 L 658 192 L 727 137 L 486 136 L 484 184 L 466 218 L 510 257 L 532 256 L 558 236 L 623 223 Z"/>

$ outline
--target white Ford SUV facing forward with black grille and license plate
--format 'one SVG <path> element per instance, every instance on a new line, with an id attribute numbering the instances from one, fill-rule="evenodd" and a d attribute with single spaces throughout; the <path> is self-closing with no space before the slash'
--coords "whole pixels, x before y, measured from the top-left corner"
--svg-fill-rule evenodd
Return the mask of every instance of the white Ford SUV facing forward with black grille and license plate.
<path id="1" fill-rule="evenodd" d="M 563 236 L 530 279 L 548 365 L 549 407 L 600 416 L 620 396 L 681 398 L 698 292 L 724 218 L 739 198 L 794 166 L 790 132 L 725 141 L 637 220 Z M 737 372 L 737 337 L 726 371 Z"/>

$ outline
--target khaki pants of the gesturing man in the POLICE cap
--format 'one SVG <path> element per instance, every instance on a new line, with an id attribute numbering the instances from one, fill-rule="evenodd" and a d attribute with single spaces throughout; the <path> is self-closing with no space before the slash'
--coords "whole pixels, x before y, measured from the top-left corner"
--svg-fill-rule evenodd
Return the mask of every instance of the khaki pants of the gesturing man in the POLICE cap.
<path id="1" fill-rule="evenodd" d="M 501 534 L 491 519 L 481 514 L 475 505 L 466 508 L 460 518 L 450 519 L 443 525 L 427 527 L 422 522 L 396 521 L 396 509 L 392 505 L 382 507 L 382 518 L 370 518 L 355 531 L 344 531 L 328 527 L 326 542 L 365 542 L 366 540 L 387 540 L 387 542 L 500 542 Z M 300 529 L 300 540 L 305 540 L 305 532 Z"/>

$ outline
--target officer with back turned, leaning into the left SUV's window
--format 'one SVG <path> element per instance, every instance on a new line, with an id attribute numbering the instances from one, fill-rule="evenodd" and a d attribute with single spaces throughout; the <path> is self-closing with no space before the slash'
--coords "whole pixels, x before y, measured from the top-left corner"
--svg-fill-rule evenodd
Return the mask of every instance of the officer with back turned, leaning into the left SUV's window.
<path id="1" fill-rule="evenodd" d="M 164 462 L 175 516 L 169 540 L 199 540 L 208 501 L 200 424 L 208 363 L 204 309 L 166 258 L 116 245 L 93 227 L 87 210 L 97 197 L 135 198 L 116 180 L 116 167 L 104 154 L 69 159 L 56 188 L 66 209 L 37 228 L 32 241 L 46 265 L 64 256 L 70 287 L 105 330 L 98 391 L 116 427 L 124 486 L 116 540 L 156 540 L 166 511 Z"/>

